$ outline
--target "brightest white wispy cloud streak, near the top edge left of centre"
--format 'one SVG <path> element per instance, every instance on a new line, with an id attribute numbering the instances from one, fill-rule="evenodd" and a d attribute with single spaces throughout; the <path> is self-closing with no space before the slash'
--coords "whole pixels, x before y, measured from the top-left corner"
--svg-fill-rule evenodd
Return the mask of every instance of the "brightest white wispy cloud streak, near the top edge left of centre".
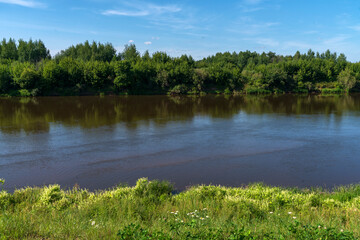
<path id="1" fill-rule="evenodd" d="M 130 4 L 127 4 L 130 5 Z M 130 7 L 130 9 L 129 9 Z M 181 8 L 176 5 L 155 5 L 148 3 L 131 4 L 126 9 L 109 9 L 102 12 L 103 15 L 118 15 L 129 17 L 143 17 L 161 15 L 165 13 L 180 12 Z"/>

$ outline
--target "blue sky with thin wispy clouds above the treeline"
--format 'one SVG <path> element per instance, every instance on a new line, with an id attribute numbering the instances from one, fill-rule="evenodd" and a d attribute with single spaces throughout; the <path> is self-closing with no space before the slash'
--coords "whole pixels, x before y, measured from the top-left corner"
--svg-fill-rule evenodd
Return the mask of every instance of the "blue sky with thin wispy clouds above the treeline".
<path id="1" fill-rule="evenodd" d="M 224 51 L 345 53 L 360 61 L 357 0 L 0 0 L 0 38 L 41 39 L 54 55 L 73 44 L 196 59 Z"/>

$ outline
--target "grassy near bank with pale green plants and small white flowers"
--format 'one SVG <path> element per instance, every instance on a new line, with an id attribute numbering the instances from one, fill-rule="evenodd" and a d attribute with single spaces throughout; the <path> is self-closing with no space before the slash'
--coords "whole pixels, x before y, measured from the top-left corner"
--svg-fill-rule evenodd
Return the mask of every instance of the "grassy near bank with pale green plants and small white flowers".
<path id="1" fill-rule="evenodd" d="M 0 239 L 357 239 L 360 186 L 331 192 L 167 182 L 88 192 L 58 185 L 0 193 Z"/>

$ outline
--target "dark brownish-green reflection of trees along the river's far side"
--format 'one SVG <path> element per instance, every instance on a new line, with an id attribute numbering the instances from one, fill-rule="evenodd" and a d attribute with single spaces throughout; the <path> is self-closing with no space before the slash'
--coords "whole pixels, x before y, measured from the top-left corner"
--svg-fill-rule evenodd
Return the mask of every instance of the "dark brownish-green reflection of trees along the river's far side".
<path id="1" fill-rule="evenodd" d="M 339 121 L 346 112 L 359 114 L 360 95 L 269 96 L 127 96 L 0 99 L 0 129 L 4 133 L 49 131 L 50 123 L 96 128 L 124 123 L 158 126 L 191 121 L 194 116 L 231 118 L 247 114 L 322 114 Z"/>

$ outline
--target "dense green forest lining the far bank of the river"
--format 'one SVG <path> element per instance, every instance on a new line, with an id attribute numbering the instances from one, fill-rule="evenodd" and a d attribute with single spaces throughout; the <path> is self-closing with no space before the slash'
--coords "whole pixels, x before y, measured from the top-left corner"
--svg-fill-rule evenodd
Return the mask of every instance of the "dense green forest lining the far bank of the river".
<path id="1" fill-rule="evenodd" d="M 309 50 L 225 52 L 195 61 L 165 52 L 140 54 L 134 44 L 71 46 L 51 57 L 41 40 L 0 43 L 0 95 L 338 93 L 360 90 L 360 63 Z"/>

